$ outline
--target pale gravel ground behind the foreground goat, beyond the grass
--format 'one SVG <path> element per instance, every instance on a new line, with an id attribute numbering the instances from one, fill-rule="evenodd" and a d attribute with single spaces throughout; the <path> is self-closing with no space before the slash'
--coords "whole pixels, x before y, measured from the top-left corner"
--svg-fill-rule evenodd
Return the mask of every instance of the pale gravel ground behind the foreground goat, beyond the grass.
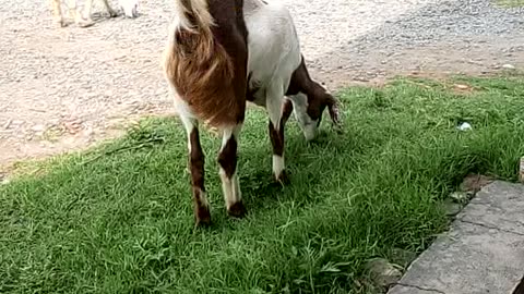
<path id="1" fill-rule="evenodd" d="M 159 68 L 171 1 L 143 0 L 136 20 L 58 28 L 47 1 L 0 0 L 0 163 L 85 147 L 135 117 L 171 113 Z M 312 74 L 329 87 L 524 65 L 522 9 L 488 0 L 285 2 Z"/>

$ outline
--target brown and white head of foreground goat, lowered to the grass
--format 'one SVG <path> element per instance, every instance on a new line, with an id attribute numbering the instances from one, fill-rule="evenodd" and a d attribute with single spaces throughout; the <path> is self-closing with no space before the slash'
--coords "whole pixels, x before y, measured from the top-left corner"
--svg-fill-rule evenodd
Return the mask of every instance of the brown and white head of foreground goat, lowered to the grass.
<path id="1" fill-rule="evenodd" d="M 308 94 L 298 93 L 291 98 L 295 118 L 302 130 L 306 140 L 315 137 L 322 114 L 327 108 L 334 127 L 341 127 L 338 101 L 322 86 L 313 82 Z M 289 101 L 287 108 L 290 107 Z"/>

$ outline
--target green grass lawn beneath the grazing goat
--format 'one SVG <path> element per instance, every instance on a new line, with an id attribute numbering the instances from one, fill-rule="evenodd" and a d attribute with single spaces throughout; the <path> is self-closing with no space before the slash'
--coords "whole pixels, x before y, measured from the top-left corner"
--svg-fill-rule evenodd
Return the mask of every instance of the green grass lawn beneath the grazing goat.
<path id="1" fill-rule="evenodd" d="M 0 187 L 2 293 L 373 293 L 364 266 L 419 253 L 468 173 L 513 181 L 524 155 L 524 79 L 396 79 L 348 88 L 345 132 L 306 144 L 293 120 L 291 183 L 271 181 L 266 115 L 251 110 L 239 175 L 249 216 L 226 217 L 219 138 L 202 132 L 213 226 L 193 230 L 187 144 L 175 120 L 39 164 Z M 474 130 L 455 126 L 469 122 Z M 140 146 L 111 152 L 126 146 Z M 107 155 L 104 155 L 108 152 Z"/>

